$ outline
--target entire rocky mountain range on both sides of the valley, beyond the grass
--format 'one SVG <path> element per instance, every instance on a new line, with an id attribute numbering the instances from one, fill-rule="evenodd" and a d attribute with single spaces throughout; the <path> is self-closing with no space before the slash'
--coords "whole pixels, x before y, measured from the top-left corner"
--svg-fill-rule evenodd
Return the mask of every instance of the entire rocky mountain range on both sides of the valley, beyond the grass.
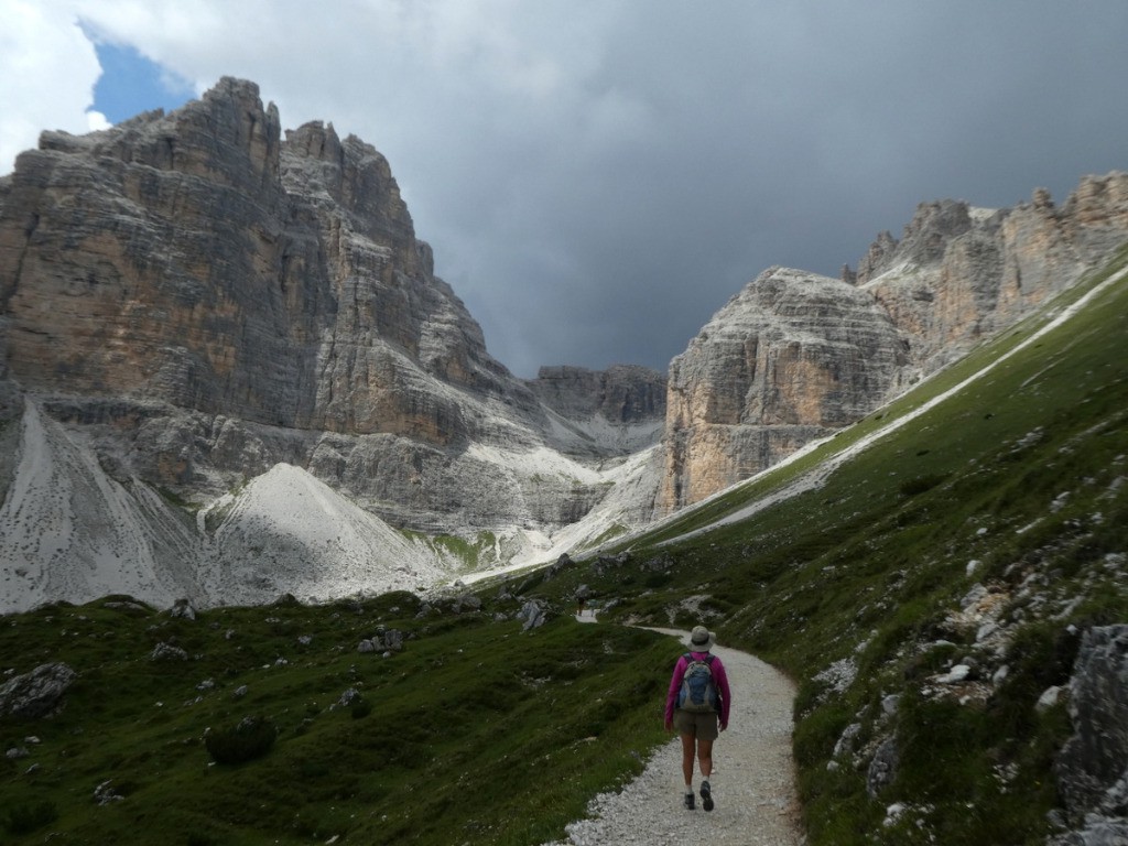
<path id="1" fill-rule="evenodd" d="M 922 204 L 843 281 L 760 274 L 669 377 L 553 367 L 520 380 L 434 275 L 387 160 L 332 124 L 283 133 L 257 86 L 226 78 L 169 115 L 44 133 L 0 179 L 3 437 L 15 455 L 26 396 L 62 425 L 51 444 L 88 450 L 138 492 L 136 513 L 196 525 L 199 549 L 238 535 L 222 520 L 244 512 L 217 503 L 282 465 L 378 527 L 430 538 L 408 556 L 418 581 L 552 559 L 827 437 L 1068 287 L 1128 228 L 1126 186 L 1086 178 L 1060 210 L 1037 192 L 993 213 Z M 25 486 L 15 465 L 0 472 L 8 503 Z M 30 525 L 56 508 L 46 491 L 36 502 Z M 19 531 L 0 525 L 6 541 Z M 179 572 L 179 541 L 158 546 L 157 566 Z M 332 570 L 332 545 L 314 555 Z M 6 583 L 26 582 L 9 557 Z M 285 590 L 272 566 L 244 574 L 257 590 L 229 588 L 270 601 Z M 376 556 L 368 583 L 328 583 L 378 589 L 385 569 Z M 41 596 L 25 584 L 9 607 Z"/>

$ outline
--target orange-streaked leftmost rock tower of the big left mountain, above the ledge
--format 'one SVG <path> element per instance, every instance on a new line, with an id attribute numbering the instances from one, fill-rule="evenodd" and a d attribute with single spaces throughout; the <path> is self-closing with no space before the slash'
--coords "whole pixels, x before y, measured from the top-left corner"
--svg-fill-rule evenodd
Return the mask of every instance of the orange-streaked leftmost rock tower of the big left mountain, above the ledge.
<path id="1" fill-rule="evenodd" d="M 0 206 L 11 374 L 37 390 L 308 417 L 309 356 L 291 345 L 302 327 L 272 273 L 277 168 L 277 115 L 249 86 L 107 132 L 44 133 Z"/>

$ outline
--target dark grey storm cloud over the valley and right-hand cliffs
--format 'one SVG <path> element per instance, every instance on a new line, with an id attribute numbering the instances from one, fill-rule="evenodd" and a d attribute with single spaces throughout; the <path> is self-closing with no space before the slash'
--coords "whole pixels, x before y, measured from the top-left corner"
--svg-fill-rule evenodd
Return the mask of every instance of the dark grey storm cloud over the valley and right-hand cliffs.
<path id="1" fill-rule="evenodd" d="M 464 180 L 440 270 L 521 374 L 664 368 L 769 265 L 837 275 L 918 202 L 1060 202 L 1128 164 L 1128 7 L 661 8 L 602 33 L 558 125 L 467 149 L 500 171 Z M 598 136 L 600 108 L 620 134 Z"/>

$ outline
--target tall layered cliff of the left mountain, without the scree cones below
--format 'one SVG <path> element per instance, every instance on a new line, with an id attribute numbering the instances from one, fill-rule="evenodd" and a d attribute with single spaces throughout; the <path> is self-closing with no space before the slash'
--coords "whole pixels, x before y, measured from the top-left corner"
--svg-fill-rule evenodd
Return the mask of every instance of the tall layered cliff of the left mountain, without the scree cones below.
<path id="1" fill-rule="evenodd" d="M 397 527 L 550 530 L 625 451 L 490 356 L 380 153 L 235 79 L 0 179 L 0 361 L 115 478 L 200 504 L 284 462 Z"/>

